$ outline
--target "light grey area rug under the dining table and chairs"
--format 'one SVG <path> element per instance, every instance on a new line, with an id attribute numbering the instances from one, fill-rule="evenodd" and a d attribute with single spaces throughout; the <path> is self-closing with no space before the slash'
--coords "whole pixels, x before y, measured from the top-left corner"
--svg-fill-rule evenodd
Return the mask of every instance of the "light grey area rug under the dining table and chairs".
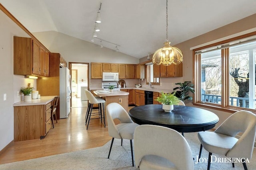
<path id="1" fill-rule="evenodd" d="M 184 133 L 195 158 L 194 169 L 206 170 L 207 162 L 201 161 L 196 164 L 196 158 L 200 149 L 200 142 L 197 138 L 197 133 Z M 164 139 L 163 139 L 164 140 Z M 145 141 L 147 142 L 147 141 Z M 93 149 L 79 150 L 42 158 L 35 158 L 19 162 L 1 164 L 0 170 L 138 170 L 132 167 L 132 158 L 130 150 L 130 141 L 115 139 L 108 159 L 108 151 L 111 141 L 102 147 Z M 159 144 L 161 145 L 161 144 Z M 172 147 L 172 146 L 170 146 Z M 225 158 L 221 155 L 213 154 L 216 158 Z M 202 150 L 201 158 L 208 158 L 208 152 Z M 182 161 L 182 160 L 180 160 Z M 256 150 L 250 163 L 246 163 L 248 170 L 256 169 Z M 235 163 L 235 168 L 232 168 L 231 163 L 213 162 L 211 170 L 243 170 L 242 163 Z"/>

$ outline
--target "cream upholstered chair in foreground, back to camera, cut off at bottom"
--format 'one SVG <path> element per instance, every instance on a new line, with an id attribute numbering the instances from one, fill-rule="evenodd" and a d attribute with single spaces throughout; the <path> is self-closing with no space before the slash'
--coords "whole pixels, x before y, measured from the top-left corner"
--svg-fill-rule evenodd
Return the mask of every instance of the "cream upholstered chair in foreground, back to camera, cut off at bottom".
<path id="1" fill-rule="evenodd" d="M 194 170 L 192 151 L 186 139 L 163 126 L 136 127 L 134 158 L 140 170 Z"/>

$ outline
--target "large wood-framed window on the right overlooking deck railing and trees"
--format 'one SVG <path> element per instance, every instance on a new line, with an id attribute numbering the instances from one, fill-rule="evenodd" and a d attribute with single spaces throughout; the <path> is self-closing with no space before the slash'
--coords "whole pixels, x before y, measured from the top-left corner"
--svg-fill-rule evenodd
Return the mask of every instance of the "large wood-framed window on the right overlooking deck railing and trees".
<path id="1" fill-rule="evenodd" d="M 196 104 L 256 108 L 256 36 L 194 50 Z"/>

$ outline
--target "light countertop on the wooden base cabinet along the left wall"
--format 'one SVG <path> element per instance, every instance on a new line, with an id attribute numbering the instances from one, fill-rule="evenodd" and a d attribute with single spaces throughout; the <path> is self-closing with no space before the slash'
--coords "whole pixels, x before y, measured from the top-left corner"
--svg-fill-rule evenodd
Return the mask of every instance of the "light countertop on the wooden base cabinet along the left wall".
<path id="1" fill-rule="evenodd" d="M 31 102 L 17 102 L 14 103 L 13 106 L 33 106 L 33 105 L 46 105 L 52 100 L 54 100 L 55 96 L 41 96 L 40 99 L 32 99 Z"/>

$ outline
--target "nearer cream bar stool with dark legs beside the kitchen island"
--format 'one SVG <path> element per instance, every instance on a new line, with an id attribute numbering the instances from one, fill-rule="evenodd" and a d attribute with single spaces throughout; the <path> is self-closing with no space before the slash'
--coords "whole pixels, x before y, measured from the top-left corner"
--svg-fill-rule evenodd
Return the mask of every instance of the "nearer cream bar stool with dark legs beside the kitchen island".
<path id="1" fill-rule="evenodd" d="M 106 127 L 106 123 L 105 123 L 105 115 L 104 115 L 104 103 L 106 102 L 104 99 L 102 98 L 95 98 L 93 96 L 93 94 L 87 90 L 87 89 L 84 89 L 84 92 L 89 100 L 89 105 L 88 105 L 88 108 L 87 108 L 87 111 L 86 111 L 86 117 L 85 117 L 85 125 L 88 121 L 88 124 L 87 124 L 87 128 L 88 129 L 88 126 L 89 126 L 89 123 L 90 123 L 90 119 L 101 119 L 102 121 L 102 118 L 104 120 L 104 127 Z M 92 109 L 93 109 L 93 105 L 94 104 L 98 104 L 98 113 L 92 113 Z M 103 116 L 102 116 L 102 107 L 103 107 Z M 91 118 L 91 116 L 93 115 L 98 115 L 99 117 L 97 118 Z"/>

